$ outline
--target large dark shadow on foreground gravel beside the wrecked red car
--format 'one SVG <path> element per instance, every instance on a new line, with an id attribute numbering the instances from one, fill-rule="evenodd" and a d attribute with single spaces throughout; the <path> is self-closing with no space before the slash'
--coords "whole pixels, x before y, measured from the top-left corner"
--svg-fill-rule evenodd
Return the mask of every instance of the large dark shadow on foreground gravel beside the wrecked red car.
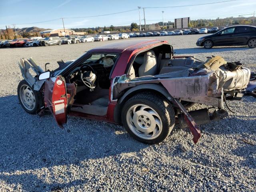
<path id="1" fill-rule="evenodd" d="M 51 115 L 39 117 L 26 113 L 14 95 L 0 97 L 0 106 L 0 180 L 21 184 L 27 191 L 55 186 L 28 172 L 71 164 L 84 166 L 90 159 L 105 157 L 115 161 L 118 154 L 148 147 L 133 140 L 121 126 L 106 122 L 68 117 L 68 124 L 61 129 Z M 36 186 L 27 189 L 32 186 L 31 181 L 40 185 L 40 190 Z M 86 181 L 73 184 L 79 182 Z M 72 186 L 70 182 L 65 185 Z M 56 186 L 59 186 L 57 181 Z"/>

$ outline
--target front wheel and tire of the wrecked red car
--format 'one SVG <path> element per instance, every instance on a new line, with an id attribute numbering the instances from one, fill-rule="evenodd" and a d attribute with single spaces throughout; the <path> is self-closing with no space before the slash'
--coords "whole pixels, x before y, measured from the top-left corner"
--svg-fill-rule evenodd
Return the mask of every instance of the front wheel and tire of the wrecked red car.
<path id="1" fill-rule="evenodd" d="M 25 80 L 18 84 L 18 98 L 22 108 L 29 114 L 36 114 L 43 106 L 42 95 L 34 90 Z"/>

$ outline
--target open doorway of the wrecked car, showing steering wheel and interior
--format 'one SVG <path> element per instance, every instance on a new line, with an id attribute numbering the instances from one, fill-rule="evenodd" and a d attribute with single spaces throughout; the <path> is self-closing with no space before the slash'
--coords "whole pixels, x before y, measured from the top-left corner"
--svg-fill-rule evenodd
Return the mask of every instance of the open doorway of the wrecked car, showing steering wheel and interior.
<path id="1" fill-rule="evenodd" d="M 69 110 L 97 116 L 107 114 L 109 76 L 117 57 L 118 54 L 92 54 L 66 76 L 67 91 L 68 84 L 76 86 L 76 95 L 70 98 Z M 88 87 L 88 82 L 93 85 Z"/>

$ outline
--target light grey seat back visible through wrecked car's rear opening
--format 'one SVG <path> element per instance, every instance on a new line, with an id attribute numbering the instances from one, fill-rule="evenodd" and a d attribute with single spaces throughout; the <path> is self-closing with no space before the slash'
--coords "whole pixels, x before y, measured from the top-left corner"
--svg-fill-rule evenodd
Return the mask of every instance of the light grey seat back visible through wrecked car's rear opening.
<path id="1" fill-rule="evenodd" d="M 150 50 L 144 54 L 144 62 L 139 67 L 139 77 L 153 76 L 157 73 L 156 54 Z"/>

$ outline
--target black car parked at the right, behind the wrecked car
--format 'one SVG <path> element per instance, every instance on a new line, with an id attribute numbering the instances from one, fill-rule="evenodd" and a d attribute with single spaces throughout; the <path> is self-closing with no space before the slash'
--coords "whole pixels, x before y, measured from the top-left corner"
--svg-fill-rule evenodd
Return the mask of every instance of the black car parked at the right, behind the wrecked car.
<path id="1" fill-rule="evenodd" d="M 228 27 L 212 35 L 199 38 L 196 45 L 204 46 L 206 49 L 213 46 L 234 45 L 248 45 L 250 48 L 256 48 L 256 27 L 246 25 Z"/>

